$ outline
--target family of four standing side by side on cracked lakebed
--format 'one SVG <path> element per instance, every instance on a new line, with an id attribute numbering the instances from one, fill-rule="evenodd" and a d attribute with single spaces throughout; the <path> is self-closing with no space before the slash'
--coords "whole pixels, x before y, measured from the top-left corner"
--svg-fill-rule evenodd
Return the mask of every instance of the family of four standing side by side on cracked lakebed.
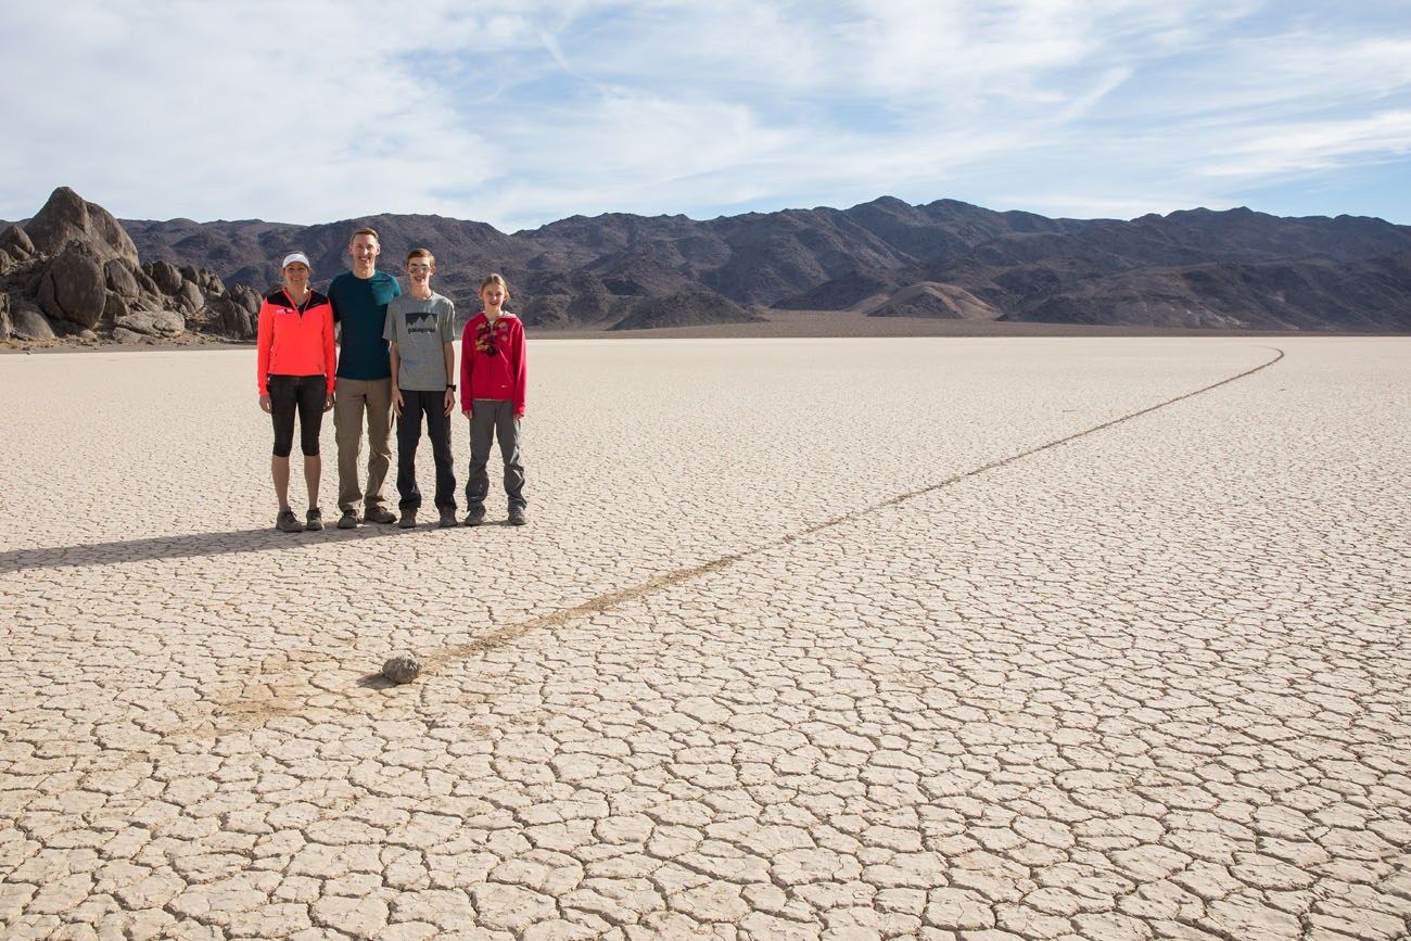
<path id="1" fill-rule="evenodd" d="M 450 419 L 457 405 L 456 305 L 432 291 L 436 258 L 426 248 L 406 254 L 408 291 L 377 269 L 381 240 L 358 229 L 349 241 L 353 258 L 329 284 L 327 293 L 309 281 L 313 265 L 302 251 L 285 257 L 282 284 L 260 308 L 255 380 L 260 408 L 274 420 L 274 477 L 281 532 L 323 529 L 319 508 L 319 432 L 323 413 L 333 412 L 339 447 L 339 529 L 363 522 L 416 526 L 422 494 L 416 485 L 416 446 L 425 420 L 436 463 L 436 509 L 440 526 L 456 526 L 456 473 L 450 450 Z M 485 521 L 490 447 L 499 442 L 505 466 L 508 522 L 525 518 L 525 471 L 519 456 L 519 423 L 525 415 L 523 323 L 504 309 L 509 285 L 492 274 L 480 285 L 483 309 L 460 339 L 460 411 L 470 420 L 470 475 L 464 523 Z M 334 324 L 340 340 L 334 353 Z M 391 467 L 391 427 L 396 418 L 398 514 L 387 508 L 382 482 Z M 309 508 L 303 522 L 289 506 L 289 453 L 295 418 L 303 450 L 303 482 Z M 358 484 L 358 457 L 367 426 L 367 487 Z M 361 509 L 361 512 L 360 512 Z"/>

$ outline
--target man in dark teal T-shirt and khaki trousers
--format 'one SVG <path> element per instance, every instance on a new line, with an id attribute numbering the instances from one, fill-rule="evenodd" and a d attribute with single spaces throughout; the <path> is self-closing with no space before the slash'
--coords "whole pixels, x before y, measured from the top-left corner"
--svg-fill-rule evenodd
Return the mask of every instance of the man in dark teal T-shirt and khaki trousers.
<path id="1" fill-rule="evenodd" d="M 353 271 L 329 285 L 333 320 L 343 332 L 339 353 L 337 395 L 333 429 L 339 446 L 339 529 L 370 523 L 392 523 L 382 481 L 392 463 L 392 363 L 382 337 L 387 305 L 402 293 L 396 278 L 377 269 L 382 244 L 373 229 L 358 229 L 349 241 Z M 358 454 L 363 450 L 363 422 L 367 420 L 367 490 L 358 487 Z"/>

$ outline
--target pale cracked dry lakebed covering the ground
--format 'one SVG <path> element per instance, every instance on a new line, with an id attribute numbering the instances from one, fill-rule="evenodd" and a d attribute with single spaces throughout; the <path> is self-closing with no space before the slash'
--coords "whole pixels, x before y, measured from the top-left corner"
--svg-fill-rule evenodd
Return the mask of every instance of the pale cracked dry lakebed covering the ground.
<path id="1" fill-rule="evenodd" d="M 7 938 L 1411 930 L 1411 339 L 531 340 L 446 530 L 253 372 L 0 358 Z"/>

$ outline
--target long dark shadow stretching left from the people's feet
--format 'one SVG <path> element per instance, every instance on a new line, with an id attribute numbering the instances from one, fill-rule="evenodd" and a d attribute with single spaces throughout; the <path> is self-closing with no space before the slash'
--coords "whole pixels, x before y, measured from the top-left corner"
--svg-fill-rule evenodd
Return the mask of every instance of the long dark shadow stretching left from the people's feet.
<path id="1" fill-rule="evenodd" d="M 123 539 L 80 546 L 55 546 L 52 549 L 10 549 L 0 552 L 0 574 L 27 571 L 30 569 L 86 569 L 89 566 L 110 566 L 123 561 L 198 559 L 202 556 L 267 552 L 270 549 L 288 549 L 289 546 L 313 546 L 330 540 L 349 542 L 395 535 L 405 536 L 406 532 L 395 526 L 360 526 L 357 529 L 329 526 L 322 532 L 296 533 L 282 533 L 274 529 L 236 529 L 222 533 L 152 536 L 148 539 Z"/>

